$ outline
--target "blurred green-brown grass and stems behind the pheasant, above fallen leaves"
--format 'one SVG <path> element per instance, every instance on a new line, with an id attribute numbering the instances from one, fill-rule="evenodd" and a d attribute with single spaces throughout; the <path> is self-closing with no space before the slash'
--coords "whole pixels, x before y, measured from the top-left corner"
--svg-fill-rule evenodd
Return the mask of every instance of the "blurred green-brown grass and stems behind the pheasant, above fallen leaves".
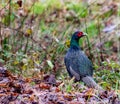
<path id="1" fill-rule="evenodd" d="M 24 77 L 68 79 L 64 55 L 76 30 L 104 88 L 120 88 L 119 0 L 1 0 L 0 66 Z"/>

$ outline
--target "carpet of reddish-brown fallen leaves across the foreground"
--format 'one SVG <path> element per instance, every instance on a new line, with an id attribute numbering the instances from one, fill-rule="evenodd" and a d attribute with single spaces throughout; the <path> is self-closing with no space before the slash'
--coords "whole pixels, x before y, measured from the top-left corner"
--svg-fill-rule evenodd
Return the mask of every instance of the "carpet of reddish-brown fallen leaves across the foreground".
<path id="1" fill-rule="evenodd" d="M 0 67 L 0 73 L 1 104 L 120 103 L 115 91 L 98 93 L 95 89 L 85 88 L 82 92 L 64 92 L 61 86 L 65 83 L 56 82 L 54 75 L 44 76 L 43 80 L 38 77 L 23 79 L 13 76 L 2 67 Z"/>

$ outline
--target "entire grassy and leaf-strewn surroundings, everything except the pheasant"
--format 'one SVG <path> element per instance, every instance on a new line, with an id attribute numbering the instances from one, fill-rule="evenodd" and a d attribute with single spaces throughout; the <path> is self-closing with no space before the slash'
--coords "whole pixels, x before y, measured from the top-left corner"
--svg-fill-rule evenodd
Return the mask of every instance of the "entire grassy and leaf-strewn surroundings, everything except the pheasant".
<path id="1" fill-rule="evenodd" d="M 119 5 L 119 0 L 0 1 L 0 101 L 119 104 Z M 76 30 L 88 34 L 80 44 L 104 91 L 68 77 L 63 58 Z"/>

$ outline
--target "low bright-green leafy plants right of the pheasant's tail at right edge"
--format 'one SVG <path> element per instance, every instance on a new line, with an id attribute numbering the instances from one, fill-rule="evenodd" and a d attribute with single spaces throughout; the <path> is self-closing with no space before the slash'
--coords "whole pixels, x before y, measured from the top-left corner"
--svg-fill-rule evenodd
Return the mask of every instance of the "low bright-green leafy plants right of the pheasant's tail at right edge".
<path id="1" fill-rule="evenodd" d="M 116 86 L 119 86 L 120 82 L 120 65 L 114 61 L 111 62 L 103 62 L 104 69 L 101 69 L 99 71 L 96 70 L 96 76 L 100 79 L 102 78 L 103 82 L 101 82 L 101 85 L 104 88 L 116 88 Z M 95 65 L 95 68 L 98 68 L 97 65 Z M 118 88 L 119 89 L 119 88 Z"/>

